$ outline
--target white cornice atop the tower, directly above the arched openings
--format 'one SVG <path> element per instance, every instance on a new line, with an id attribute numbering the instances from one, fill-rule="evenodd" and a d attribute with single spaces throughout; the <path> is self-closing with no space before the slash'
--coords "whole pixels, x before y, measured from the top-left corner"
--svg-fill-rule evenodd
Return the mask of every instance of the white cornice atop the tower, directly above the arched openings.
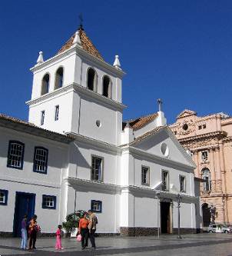
<path id="1" fill-rule="evenodd" d="M 71 48 L 68 48 L 68 50 L 66 50 L 65 52 L 61 52 L 60 54 L 55 55 L 52 58 L 48 58 L 48 60 L 46 60 L 45 62 L 42 62 L 39 65 L 35 65 L 34 67 L 30 68 L 30 70 L 32 72 L 39 71 L 41 68 L 45 68 L 46 66 L 51 65 L 52 63 L 57 62 L 61 58 L 67 57 L 68 55 L 71 55 L 73 53 L 75 53 L 80 57 L 84 57 L 91 62 L 94 62 L 94 64 L 97 64 L 101 68 L 108 69 L 109 71 L 111 71 L 111 73 L 113 73 L 114 75 L 117 75 L 120 78 L 122 78 L 125 75 L 124 71 L 122 71 L 121 69 L 114 68 L 114 66 L 108 64 L 107 62 L 102 61 L 101 59 L 95 57 L 94 55 L 89 54 L 84 49 L 79 48 L 78 46 L 75 46 L 75 45 L 72 46 Z"/>

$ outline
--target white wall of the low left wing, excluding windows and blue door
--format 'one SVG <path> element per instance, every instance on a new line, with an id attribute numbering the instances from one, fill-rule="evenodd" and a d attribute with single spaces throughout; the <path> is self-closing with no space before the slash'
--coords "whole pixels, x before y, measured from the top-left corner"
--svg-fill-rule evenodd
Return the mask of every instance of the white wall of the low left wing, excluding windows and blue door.
<path id="1" fill-rule="evenodd" d="M 21 141 L 25 144 L 24 165 L 22 170 L 7 167 L 8 141 Z M 25 192 L 35 195 L 35 214 L 42 232 L 54 232 L 60 223 L 61 172 L 65 171 L 67 145 L 38 136 L 8 128 L 0 128 L 0 189 L 8 190 L 7 205 L 0 205 L 0 214 L 5 216 L 0 223 L 0 231 L 12 232 L 15 214 L 15 193 Z M 48 149 L 47 174 L 33 171 L 35 146 Z M 42 208 L 42 194 L 56 196 L 55 209 Z M 5 213 L 8 214 L 5 214 Z M 49 221 L 48 221 L 49 216 Z"/>

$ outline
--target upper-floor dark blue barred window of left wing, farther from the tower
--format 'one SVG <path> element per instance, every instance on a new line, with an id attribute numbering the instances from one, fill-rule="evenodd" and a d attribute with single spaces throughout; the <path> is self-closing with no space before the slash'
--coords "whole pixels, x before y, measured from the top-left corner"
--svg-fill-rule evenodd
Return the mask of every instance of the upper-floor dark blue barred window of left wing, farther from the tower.
<path id="1" fill-rule="evenodd" d="M 22 169 L 25 145 L 20 141 L 9 141 L 7 167 Z"/>

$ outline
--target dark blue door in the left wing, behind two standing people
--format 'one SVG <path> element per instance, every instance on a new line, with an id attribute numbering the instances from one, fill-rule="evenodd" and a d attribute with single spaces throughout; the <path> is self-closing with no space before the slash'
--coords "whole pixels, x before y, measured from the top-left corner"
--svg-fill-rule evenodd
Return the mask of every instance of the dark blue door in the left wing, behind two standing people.
<path id="1" fill-rule="evenodd" d="M 16 192 L 13 226 L 13 236 L 15 238 L 21 237 L 21 222 L 25 214 L 28 215 L 28 221 L 35 214 L 35 194 Z"/>

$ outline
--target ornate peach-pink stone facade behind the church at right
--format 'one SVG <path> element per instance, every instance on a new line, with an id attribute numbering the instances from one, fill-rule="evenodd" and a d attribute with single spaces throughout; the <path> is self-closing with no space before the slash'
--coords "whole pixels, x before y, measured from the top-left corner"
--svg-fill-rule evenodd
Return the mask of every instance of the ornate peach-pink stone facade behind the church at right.
<path id="1" fill-rule="evenodd" d="M 201 183 L 204 226 L 210 221 L 210 207 L 216 207 L 215 222 L 232 224 L 232 117 L 224 113 L 197 117 L 184 110 L 170 125 L 197 165 Z"/>

